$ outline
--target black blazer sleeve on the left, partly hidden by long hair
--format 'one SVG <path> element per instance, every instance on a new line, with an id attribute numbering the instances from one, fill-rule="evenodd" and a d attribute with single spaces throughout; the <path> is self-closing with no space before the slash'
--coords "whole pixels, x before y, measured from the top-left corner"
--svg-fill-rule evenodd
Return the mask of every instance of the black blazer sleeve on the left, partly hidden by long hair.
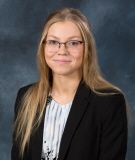
<path id="1" fill-rule="evenodd" d="M 14 122 L 17 118 L 18 109 L 20 107 L 22 97 L 24 96 L 24 94 L 27 91 L 27 89 L 29 88 L 29 86 L 30 85 L 23 87 L 23 88 L 20 88 L 17 93 L 17 97 L 15 100 L 15 106 L 14 106 Z M 25 159 L 28 159 L 26 153 L 24 155 L 23 160 L 25 160 Z M 20 160 L 20 158 L 19 158 L 19 145 L 18 145 L 18 142 L 15 141 L 15 131 L 13 131 L 13 134 L 12 134 L 11 160 Z"/>

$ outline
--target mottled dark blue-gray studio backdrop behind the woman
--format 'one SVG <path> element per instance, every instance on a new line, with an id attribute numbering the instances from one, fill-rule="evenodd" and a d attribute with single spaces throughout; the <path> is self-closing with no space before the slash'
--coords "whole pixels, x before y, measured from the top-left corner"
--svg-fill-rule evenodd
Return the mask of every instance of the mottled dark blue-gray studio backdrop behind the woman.
<path id="1" fill-rule="evenodd" d="M 126 94 L 135 115 L 134 0 L 0 0 L 0 159 L 10 160 L 11 126 L 19 87 L 37 80 L 36 51 L 46 16 L 60 7 L 80 9 L 91 21 L 105 77 Z M 133 118 L 134 121 L 134 118 Z M 135 125 L 127 159 L 135 153 Z"/>

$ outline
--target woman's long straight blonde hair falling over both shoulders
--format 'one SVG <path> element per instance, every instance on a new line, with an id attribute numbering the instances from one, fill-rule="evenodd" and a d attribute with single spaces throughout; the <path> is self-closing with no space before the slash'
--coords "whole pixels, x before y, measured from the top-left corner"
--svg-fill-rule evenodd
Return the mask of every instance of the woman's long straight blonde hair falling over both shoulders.
<path id="1" fill-rule="evenodd" d="M 31 134 L 38 128 L 41 122 L 47 96 L 52 86 L 52 72 L 45 61 L 43 41 L 46 39 L 48 29 L 52 24 L 64 21 L 75 23 L 84 41 L 83 82 L 97 94 L 101 94 L 98 91 L 100 89 L 112 88 L 119 90 L 119 88 L 103 78 L 98 65 L 92 29 L 87 18 L 79 10 L 73 8 L 64 8 L 50 14 L 46 20 L 37 51 L 39 81 L 32 85 L 24 94 L 15 120 L 15 139 L 19 139 L 21 156 L 23 156 L 25 148 L 29 144 Z"/>

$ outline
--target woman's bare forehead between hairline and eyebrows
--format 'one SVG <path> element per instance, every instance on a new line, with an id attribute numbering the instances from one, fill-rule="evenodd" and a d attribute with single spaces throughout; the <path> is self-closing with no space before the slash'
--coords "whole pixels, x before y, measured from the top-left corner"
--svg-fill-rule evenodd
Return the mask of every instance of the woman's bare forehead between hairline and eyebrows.
<path id="1" fill-rule="evenodd" d="M 56 22 L 48 29 L 47 36 L 55 37 L 81 37 L 78 26 L 71 21 Z"/>

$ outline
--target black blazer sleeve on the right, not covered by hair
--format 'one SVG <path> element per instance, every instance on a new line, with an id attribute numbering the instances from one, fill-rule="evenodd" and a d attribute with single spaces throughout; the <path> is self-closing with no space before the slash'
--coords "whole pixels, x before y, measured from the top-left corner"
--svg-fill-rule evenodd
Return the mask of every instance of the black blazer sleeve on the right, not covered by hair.
<path id="1" fill-rule="evenodd" d="M 125 160 L 127 151 L 127 113 L 122 93 L 110 96 L 102 113 L 99 160 Z"/>

